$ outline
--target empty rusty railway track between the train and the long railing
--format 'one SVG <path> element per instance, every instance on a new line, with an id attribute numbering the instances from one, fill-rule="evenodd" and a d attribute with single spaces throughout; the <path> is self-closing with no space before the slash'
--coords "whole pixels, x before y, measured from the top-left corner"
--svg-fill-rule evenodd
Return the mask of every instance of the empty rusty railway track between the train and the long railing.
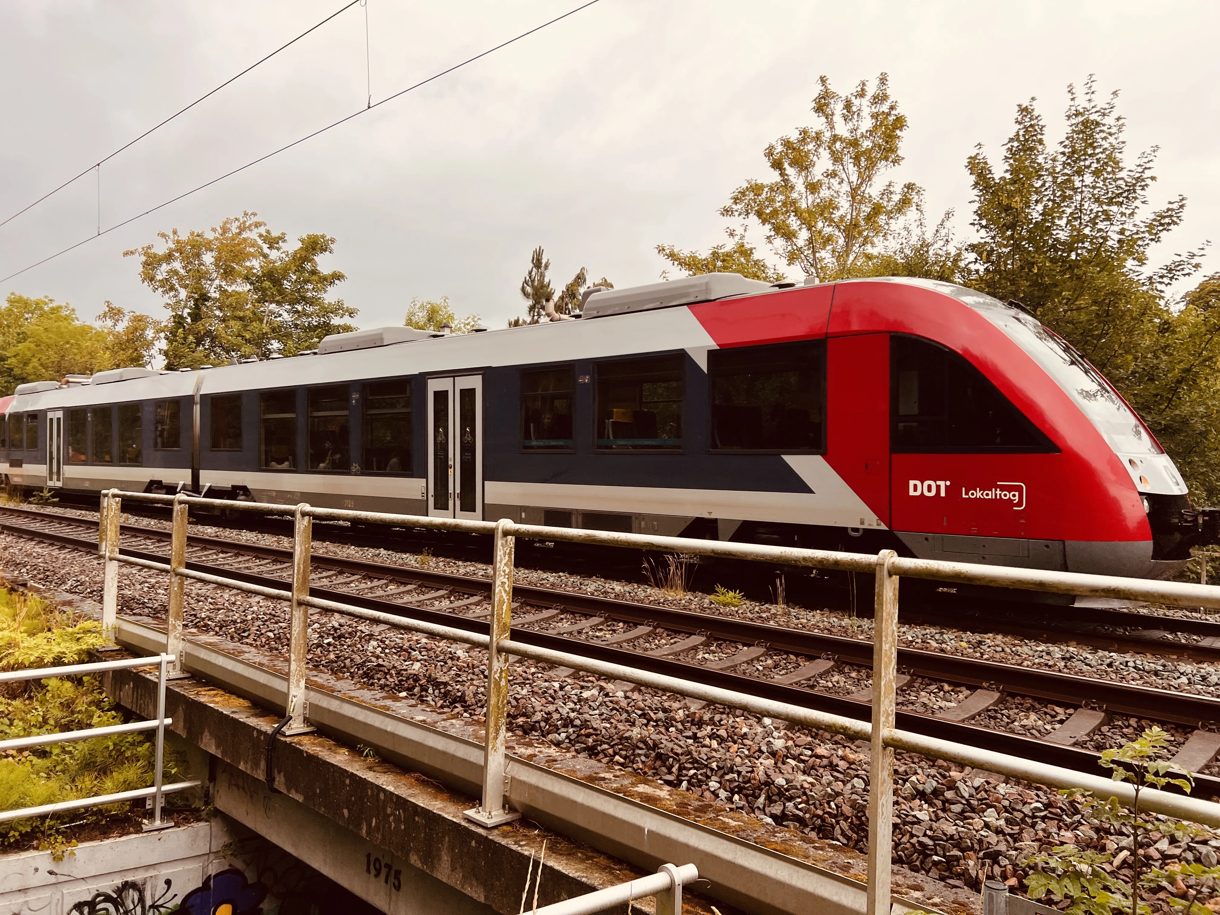
<path id="1" fill-rule="evenodd" d="M 96 550 L 96 525 L 84 518 L 0 506 L 0 531 L 72 549 Z M 165 531 L 134 525 L 122 528 L 126 555 L 167 562 L 168 540 Z M 190 536 L 187 560 L 190 569 L 201 572 L 278 588 L 287 587 L 292 572 L 290 550 L 214 537 Z M 490 581 L 487 578 L 315 553 L 310 590 L 323 599 L 472 632 L 488 631 Z M 514 638 L 521 642 L 859 720 L 870 717 L 866 688 L 849 695 L 817 689 L 819 678 L 836 666 L 870 667 L 869 640 L 525 584 L 514 586 Z M 1130 617 L 1147 617 L 1149 623 L 1161 627 L 1166 622 L 1186 622 L 1193 627 L 1193 634 L 1204 638 L 1209 637 L 1204 636 L 1209 626 L 1220 631 L 1220 625 L 1208 621 L 1150 614 L 1099 609 L 1098 617 L 1111 614 L 1121 615 L 1127 626 Z M 1153 644 L 1149 639 L 1137 640 L 1141 645 Z M 721 658 L 705 664 L 683 659 L 709 643 L 719 644 Z M 640 648 L 649 644 L 655 647 Z M 733 650 L 725 651 L 725 645 Z M 756 670 L 770 655 L 795 655 L 800 662 L 771 678 L 741 672 L 752 666 Z M 1099 754 L 1072 744 L 1104 723 L 1107 712 L 1118 712 L 1197 728 L 1177 756 L 1188 769 L 1202 769 L 1220 752 L 1216 698 L 911 648 L 899 649 L 898 664 L 900 675 L 908 678 L 948 682 L 972 691 L 958 705 L 936 716 L 899 710 L 898 726 L 917 733 L 1096 772 Z M 970 723 L 971 717 L 993 708 L 1005 695 L 1031 697 L 1076 711 L 1047 739 Z M 1197 793 L 1220 797 L 1220 778 L 1197 776 Z"/>

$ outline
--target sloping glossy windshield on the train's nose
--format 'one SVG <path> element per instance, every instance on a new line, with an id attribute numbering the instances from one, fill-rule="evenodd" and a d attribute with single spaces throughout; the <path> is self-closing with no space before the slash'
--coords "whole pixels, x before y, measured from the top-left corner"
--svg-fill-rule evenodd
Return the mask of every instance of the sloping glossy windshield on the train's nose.
<path id="1" fill-rule="evenodd" d="M 963 287 L 952 288 L 950 295 L 1000 328 L 1042 366 L 1118 454 L 1163 454 L 1131 407 L 1068 342 L 1021 309 Z"/>

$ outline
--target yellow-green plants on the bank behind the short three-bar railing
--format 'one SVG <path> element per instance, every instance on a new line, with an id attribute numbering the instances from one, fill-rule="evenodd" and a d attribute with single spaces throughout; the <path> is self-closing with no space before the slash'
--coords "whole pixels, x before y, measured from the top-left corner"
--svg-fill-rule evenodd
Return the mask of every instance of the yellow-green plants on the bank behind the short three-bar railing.
<path id="1" fill-rule="evenodd" d="M 78 664 L 104 643 L 101 627 L 40 598 L 0 589 L 0 670 Z M 0 688 L 0 739 L 122 723 L 95 677 L 55 677 Z M 112 794 L 152 783 L 154 744 L 144 734 L 7 750 L 0 755 L 0 810 Z M 172 776 L 167 766 L 166 777 Z M 37 839 L 59 848 L 66 822 L 98 822 L 129 804 L 0 824 L 0 845 Z"/>

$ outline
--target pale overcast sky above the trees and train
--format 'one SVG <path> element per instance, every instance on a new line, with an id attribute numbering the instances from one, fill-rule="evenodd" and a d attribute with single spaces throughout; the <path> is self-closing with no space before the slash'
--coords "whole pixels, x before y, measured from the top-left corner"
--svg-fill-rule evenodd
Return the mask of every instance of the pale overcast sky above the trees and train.
<path id="1" fill-rule="evenodd" d="M 577 5 L 368 0 L 373 101 Z M 293 2 L 0 2 L 0 220 L 339 9 Z M 880 71 L 910 121 L 897 177 L 958 211 L 964 162 L 996 156 L 1015 105 L 1054 133 L 1068 83 L 1120 89 L 1131 155 L 1160 146 L 1154 200 L 1185 194 L 1165 255 L 1220 242 L 1220 55 L 1214 2 L 725 2 L 594 6 L 239 176 L 9 279 L 93 318 L 110 299 L 161 315 L 122 251 L 254 210 L 337 239 L 327 268 L 357 323 L 401 323 L 412 296 L 503 326 L 542 244 L 556 285 L 584 266 L 655 282 L 659 243 L 723 239 L 716 210 L 762 148 Z M 101 227 L 366 104 L 355 6 L 101 168 Z M 0 277 L 96 232 L 83 178 L 0 228 Z M 761 238 L 758 238 L 761 242 Z M 1209 271 L 1220 268 L 1213 256 Z"/>

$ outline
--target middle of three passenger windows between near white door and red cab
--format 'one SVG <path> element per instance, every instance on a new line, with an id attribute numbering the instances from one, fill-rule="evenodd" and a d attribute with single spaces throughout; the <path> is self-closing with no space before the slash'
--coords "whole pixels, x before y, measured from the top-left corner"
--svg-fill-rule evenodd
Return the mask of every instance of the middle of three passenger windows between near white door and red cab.
<path id="1" fill-rule="evenodd" d="M 616 451 L 682 447 L 683 354 L 598 362 L 594 442 Z"/>

